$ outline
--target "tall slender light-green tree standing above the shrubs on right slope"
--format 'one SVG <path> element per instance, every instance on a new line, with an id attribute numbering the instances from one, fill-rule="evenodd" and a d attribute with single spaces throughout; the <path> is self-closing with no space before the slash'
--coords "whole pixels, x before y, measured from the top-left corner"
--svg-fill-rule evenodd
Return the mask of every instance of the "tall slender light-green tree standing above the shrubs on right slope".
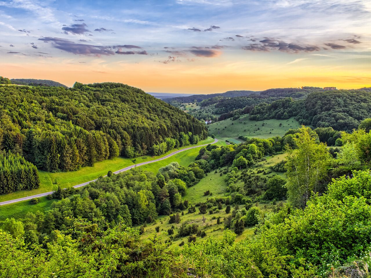
<path id="1" fill-rule="evenodd" d="M 309 133 L 310 128 L 299 129 L 295 143 L 297 149 L 288 149 L 286 162 L 287 189 L 289 201 L 296 208 L 304 208 L 311 192 L 318 192 L 318 186 L 327 172 L 330 154 L 323 143 L 317 144 Z"/>

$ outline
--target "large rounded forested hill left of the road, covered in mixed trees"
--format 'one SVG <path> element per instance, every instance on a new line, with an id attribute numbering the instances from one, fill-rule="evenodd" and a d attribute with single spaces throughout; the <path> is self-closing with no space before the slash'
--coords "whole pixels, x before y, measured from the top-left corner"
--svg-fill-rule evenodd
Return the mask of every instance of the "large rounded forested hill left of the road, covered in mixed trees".
<path id="1" fill-rule="evenodd" d="M 0 150 L 47 171 L 161 154 L 206 137 L 193 116 L 121 83 L 0 87 Z"/>

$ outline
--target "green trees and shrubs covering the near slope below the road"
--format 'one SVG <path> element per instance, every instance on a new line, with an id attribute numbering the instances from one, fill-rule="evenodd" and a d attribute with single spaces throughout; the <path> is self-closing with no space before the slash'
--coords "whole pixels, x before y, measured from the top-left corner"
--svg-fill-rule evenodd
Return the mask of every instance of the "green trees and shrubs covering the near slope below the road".
<path id="1" fill-rule="evenodd" d="M 4 277 L 50 277 L 50 273 L 56 277 L 344 278 L 350 273 L 368 277 L 371 133 L 343 132 L 341 139 L 344 145 L 334 157 L 316 132 L 303 127 L 284 138 L 251 139 L 221 148 L 209 145 L 188 167 L 171 163 L 157 175 L 132 169 L 100 178 L 79 193 L 59 189 L 52 198 L 60 201 L 49 211 L 3 222 L 1 273 Z M 288 152 L 287 179 L 276 175 L 255 182 L 244 172 L 282 148 Z M 230 166 L 228 197 L 211 196 L 198 204 L 182 200 L 197 179 L 222 165 Z M 245 180 L 243 186 L 236 186 L 239 179 Z M 260 184 L 264 185 L 256 186 Z M 263 198 L 276 202 L 273 211 L 253 205 Z M 286 203 L 277 202 L 286 198 Z M 221 203 L 227 205 L 223 238 L 198 241 L 207 235 L 196 224 L 182 223 L 180 212 L 194 213 L 197 207 L 203 215 L 221 208 Z M 172 238 L 188 237 L 188 243 L 174 246 L 157 234 L 141 238 L 144 226 L 160 214 L 170 215 L 169 222 L 178 225 Z M 236 242 L 235 234 L 251 226 L 254 234 Z"/>

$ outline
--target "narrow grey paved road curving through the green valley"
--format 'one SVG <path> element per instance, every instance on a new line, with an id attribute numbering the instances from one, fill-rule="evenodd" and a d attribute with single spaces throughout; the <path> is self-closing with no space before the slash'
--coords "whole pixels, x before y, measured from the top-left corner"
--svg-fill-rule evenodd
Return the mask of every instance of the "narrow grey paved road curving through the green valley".
<path id="1" fill-rule="evenodd" d="M 214 142 L 213 143 L 210 143 L 210 144 L 215 144 L 216 142 L 218 142 L 219 140 L 218 139 L 214 139 Z M 152 163 L 152 162 L 156 162 L 156 161 L 160 161 L 162 159 L 167 159 L 169 158 L 170 156 L 173 156 L 173 155 L 176 155 L 177 153 L 180 153 L 180 152 L 184 152 L 185 150 L 190 150 L 190 149 L 194 149 L 194 148 L 199 148 L 199 147 L 203 147 L 203 146 L 207 146 L 209 144 L 204 144 L 204 145 L 199 145 L 199 146 L 193 146 L 193 147 L 189 147 L 189 148 L 185 148 L 185 149 L 181 149 L 181 150 L 177 150 L 175 152 L 172 152 L 162 158 L 158 158 L 158 159 L 154 159 L 154 160 L 150 160 L 150 161 L 147 161 L 147 162 L 142 162 L 142 163 L 138 163 L 138 164 L 134 164 L 134 165 L 131 165 L 131 166 L 128 166 L 126 168 L 123 168 L 123 169 L 120 169 L 116 172 L 114 172 L 114 174 L 118 174 L 118 173 L 121 173 L 121 172 L 125 172 L 125 171 L 128 171 L 129 169 L 131 168 L 134 168 L 134 167 L 138 167 L 138 166 L 142 166 L 142 165 L 145 165 L 145 164 L 149 164 L 149 163 Z M 95 182 L 96 180 L 98 179 L 93 179 L 92 181 L 88 181 L 88 182 L 84 182 L 84 183 L 81 183 L 81 184 L 78 184 L 78 185 L 75 185 L 73 186 L 74 188 L 79 188 L 81 186 L 84 186 L 84 185 L 87 185 L 91 182 Z M 26 200 L 30 200 L 32 198 L 38 198 L 38 197 L 44 197 L 44 196 L 47 196 L 47 195 L 50 195 L 50 194 L 53 194 L 54 191 L 50 191 L 50 192 L 45 192 L 45 193 L 40 193 L 40 194 L 37 194 L 37 195 L 32 195 L 32 196 L 27 196 L 27 197 L 23 197 L 23 198 L 18 198 L 18 199 L 13 199 L 13 200 L 9 200 L 9 201 L 5 201 L 5 202 L 0 202 L 0 206 L 1 205 L 8 205 L 10 203 L 16 203 L 16 202 L 21 202 L 21 201 L 26 201 Z"/>

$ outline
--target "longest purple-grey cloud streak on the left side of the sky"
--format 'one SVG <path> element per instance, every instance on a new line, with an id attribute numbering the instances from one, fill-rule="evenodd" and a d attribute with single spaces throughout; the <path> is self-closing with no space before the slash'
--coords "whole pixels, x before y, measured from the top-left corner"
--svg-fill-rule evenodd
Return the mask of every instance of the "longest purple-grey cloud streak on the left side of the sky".
<path id="1" fill-rule="evenodd" d="M 96 46 L 90 44 L 75 43 L 70 40 L 60 39 L 56 37 L 43 37 L 39 39 L 43 42 L 51 42 L 53 47 L 73 53 L 87 56 L 101 56 L 101 55 L 114 55 L 115 53 L 111 50 L 111 47 L 107 46 Z"/>

